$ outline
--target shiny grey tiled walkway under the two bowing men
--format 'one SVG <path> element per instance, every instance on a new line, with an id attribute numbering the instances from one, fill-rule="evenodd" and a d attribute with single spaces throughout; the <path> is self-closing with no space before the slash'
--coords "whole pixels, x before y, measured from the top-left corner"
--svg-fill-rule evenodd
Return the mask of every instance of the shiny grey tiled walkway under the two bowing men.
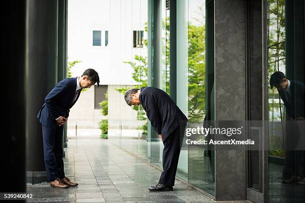
<path id="1" fill-rule="evenodd" d="M 214 203 L 176 181 L 172 192 L 150 192 L 160 171 L 98 137 L 78 137 L 65 149 L 65 174 L 78 187 L 55 189 L 49 183 L 27 186 L 27 202 L 60 203 Z"/>

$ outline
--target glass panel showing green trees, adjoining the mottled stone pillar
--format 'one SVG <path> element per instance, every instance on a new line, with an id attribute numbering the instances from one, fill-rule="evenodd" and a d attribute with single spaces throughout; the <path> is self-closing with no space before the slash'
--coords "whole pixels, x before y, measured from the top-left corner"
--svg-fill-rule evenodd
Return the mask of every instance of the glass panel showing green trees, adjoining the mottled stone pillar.
<path id="1" fill-rule="evenodd" d="M 211 117 L 207 112 L 211 109 L 207 101 L 206 75 L 206 1 L 188 0 L 188 127 L 197 128 L 207 125 Z M 209 9 L 211 9 L 209 7 Z M 212 11 L 212 10 L 210 10 Z M 210 14 L 214 14 L 212 11 Z M 210 16 L 208 16 L 210 17 Z M 213 23 L 213 22 L 212 22 Z M 214 31 L 210 32 L 210 35 Z M 212 40 L 212 39 L 211 39 Z M 211 41 L 213 44 L 213 41 Z M 212 51 L 212 50 L 210 50 Z M 211 52 L 209 52 L 211 53 Z M 213 59 L 212 59 L 213 60 Z M 210 66 L 210 69 L 214 67 Z M 209 70 L 212 71 L 212 70 Z M 208 72 L 209 72 L 208 71 Z M 211 88 L 210 88 L 211 94 Z M 208 105 L 207 105 L 208 104 Z M 204 123 L 204 124 L 203 124 Z M 205 127 L 205 126 L 204 126 Z M 208 126 L 209 127 L 209 126 Z M 202 135 L 192 134 L 191 140 L 208 139 Z M 188 145 L 188 182 L 214 195 L 214 155 L 206 145 Z"/>

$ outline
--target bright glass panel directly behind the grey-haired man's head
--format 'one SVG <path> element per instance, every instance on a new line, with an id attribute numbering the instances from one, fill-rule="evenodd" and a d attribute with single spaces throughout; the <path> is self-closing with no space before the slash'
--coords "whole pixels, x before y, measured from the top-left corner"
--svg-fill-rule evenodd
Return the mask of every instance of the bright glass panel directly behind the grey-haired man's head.
<path id="1" fill-rule="evenodd" d="M 133 29 L 137 30 L 137 49 L 132 50 L 132 68 L 133 68 L 133 87 L 141 89 L 147 87 L 148 72 L 147 72 L 147 57 L 148 47 L 144 44 L 144 31 L 147 36 L 146 24 L 148 21 L 148 1 L 147 0 L 133 0 Z M 150 160 L 148 156 L 148 119 L 142 107 L 134 106 L 133 112 L 135 118 L 133 119 L 133 129 L 135 133 L 132 137 L 132 152 L 137 156 Z"/>

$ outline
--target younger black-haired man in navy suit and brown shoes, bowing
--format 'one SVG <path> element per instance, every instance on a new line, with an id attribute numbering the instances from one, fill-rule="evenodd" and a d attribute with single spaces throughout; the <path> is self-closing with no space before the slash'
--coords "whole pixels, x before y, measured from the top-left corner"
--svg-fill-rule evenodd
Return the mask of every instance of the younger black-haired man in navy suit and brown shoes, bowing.
<path id="1" fill-rule="evenodd" d="M 66 78 L 60 81 L 46 96 L 37 118 L 42 125 L 44 163 L 50 186 L 68 188 L 77 186 L 64 174 L 62 160 L 63 125 L 67 122 L 70 108 L 78 100 L 84 88 L 95 83 L 99 86 L 99 75 L 93 69 L 87 69 L 81 77 Z"/>

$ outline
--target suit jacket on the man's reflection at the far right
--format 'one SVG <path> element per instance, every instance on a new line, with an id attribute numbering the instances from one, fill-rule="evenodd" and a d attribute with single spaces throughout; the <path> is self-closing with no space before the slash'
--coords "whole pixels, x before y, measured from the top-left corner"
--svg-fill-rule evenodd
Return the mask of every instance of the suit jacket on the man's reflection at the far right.
<path id="1" fill-rule="evenodd" d="M 305 84 L 291 80 L 289 99 L 287 99 L 287 93 L 284 90 L 278 90 L 278 92 L 285 104 L 288 120 L 300 116 L 305 118 Z"/>

